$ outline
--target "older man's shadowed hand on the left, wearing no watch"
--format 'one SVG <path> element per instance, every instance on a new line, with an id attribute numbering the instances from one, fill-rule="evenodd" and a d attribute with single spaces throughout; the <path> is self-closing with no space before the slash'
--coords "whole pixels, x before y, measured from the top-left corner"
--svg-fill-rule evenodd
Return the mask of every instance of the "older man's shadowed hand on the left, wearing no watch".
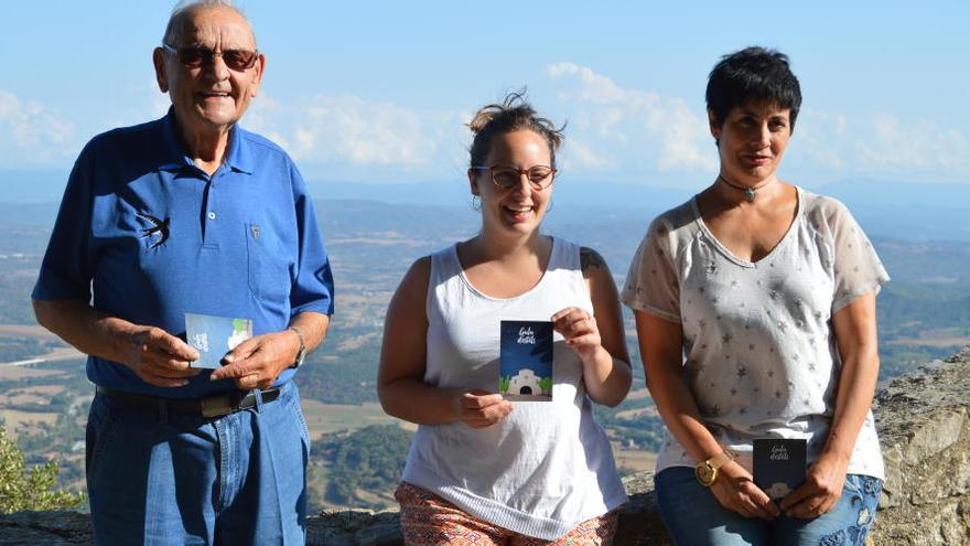
<path id="1" fill-rule="evenodd" d="M 128 338 L 125 364 L 157 387 L 181 387 L 201 370 L 190 367 L 198 352 L 160 328 L 139 328 Z"/>

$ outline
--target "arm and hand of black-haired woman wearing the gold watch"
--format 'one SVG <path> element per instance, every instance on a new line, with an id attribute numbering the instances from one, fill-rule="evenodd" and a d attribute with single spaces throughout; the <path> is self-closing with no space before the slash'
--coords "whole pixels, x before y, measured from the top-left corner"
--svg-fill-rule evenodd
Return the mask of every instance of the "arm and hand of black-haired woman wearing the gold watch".
<path id="1" fill-rule="evenodd" d="M 690 389 L 681 379 L 683 331 L 681 325 L 654 314 L 636 311 L 637 340 L 644 361 L 647 388 L 670 433 L 698 462 L 724 451 L 701 419 Z M 724 507 L 745 517 L 770 520 L 778 507 L 737 462 L 719 470 L 711 492 Z"/>

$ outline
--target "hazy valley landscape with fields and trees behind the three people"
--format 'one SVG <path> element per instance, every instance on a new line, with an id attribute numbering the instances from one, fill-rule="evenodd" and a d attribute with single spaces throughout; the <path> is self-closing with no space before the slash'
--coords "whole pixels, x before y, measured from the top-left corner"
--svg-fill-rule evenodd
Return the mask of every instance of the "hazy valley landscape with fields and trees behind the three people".
<path id="1" fill-rule="evenodd" d="M 558 206 L 558 205 L 557 205 Z M 23 214 L 30 208 L 30 214 Z M 56 207 L 0 206 L 0 419 L 32 461 L 57 458 L 62 484 L 83 486 L 83 424 L 91 387 L 79 355 L 33 325 L 29 293 Z M 397 425 L 376 405 L 375 376 L 384 312 L 400 277 L 418 257 L 476 228 L 470 207 L 388 204 L 375 201 L 317 203 L 337 285 L 336 314 L 325 346 L 298 375 L 314 440 L 324 445 L 368 425 Z M 17 210 L 17 214 L 4 211 Z M 547 232 L 601 251 L 622 282 L 649 221 L 629 210 L 554 208 Z M 873 236 L 893 277 L 880 296 L 881 381 L 970 343 L 970 243 Z M 624 472 L 650 468 L 662 437 L 644 390 L 632 317 L 625 317 L 634 355 L 634 394 L 617 408 L 597 407 L 615 441 Z M 60 361 L 10 365 L 52 351 Z M 322 435 L 336 435 L 322 439 Z M 343 436 L 342 436 L 343 435 Z M 405 443 L 399 442 L 401 446 Z M 314 451 L 313 499 L 320 506 L 387 505 L 387 495 L 362 499 L 330 485 L 337 451 Z M 398 457 L 403 457 L 398 447 Z M 392 470 L 392 469 L 391 469 Z M 340 473 L 340 472 L 338 472 Z M 359 477 L 342 479 L 370 480 Z M 380 474 L 390 475 L 390 473 Z M 392 483 L 385 479 L 384 483 Z M 390 485 L 388 485 L 390 486 Z M 348 492 L 349 491 L 349 492 Z M 385 491 L 386 493 L 386 491 Z"/>

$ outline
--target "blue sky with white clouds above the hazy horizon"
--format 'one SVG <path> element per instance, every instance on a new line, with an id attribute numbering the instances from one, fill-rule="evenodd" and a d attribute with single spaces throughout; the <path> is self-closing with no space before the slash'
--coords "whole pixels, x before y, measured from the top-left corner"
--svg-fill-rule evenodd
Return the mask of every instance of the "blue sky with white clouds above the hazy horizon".
<path id="1" fill-rule="evenodd" d="M 782 168 L 801 184 L 970 183 L 970 2 L 240 2 L 268 66 L 242 125 L 308 179 L 463 179 L 463 126 L 528 86 L 568 120 L 574 180 L 701 188 L 703 88 L 720 55 L 787 53 L 802 114 Z M 686 6 L 685 6 L 686 4 Z M 164 113 L 151 50 L 173 2 L 4 10 L 0 169 L 69 169 L 111 127 Z"/>

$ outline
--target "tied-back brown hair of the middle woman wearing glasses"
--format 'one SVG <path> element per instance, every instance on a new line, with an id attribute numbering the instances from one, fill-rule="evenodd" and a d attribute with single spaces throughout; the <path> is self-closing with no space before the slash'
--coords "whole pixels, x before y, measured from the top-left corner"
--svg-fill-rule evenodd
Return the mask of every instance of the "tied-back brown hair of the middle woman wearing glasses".
<path id="1" fill-rule="evenodd" d="M 556 167 L 556 150 L 562 146 L 562 129 L 556 128 L 552 121 L 539 117 L 532 105 L 526 100 L 526 92 L 513 92 L 506 95 L 502 104 L 486 105 L 478 108 L 475 117 L 468 122 L 468 129 L 475 133 L 472 147 L 470 167 L 482 165 L 492 151 L 492 141 L 495 137 L 508 132 L 529 130 L 534 131 L 549 144 L 549 158 Z"/>

